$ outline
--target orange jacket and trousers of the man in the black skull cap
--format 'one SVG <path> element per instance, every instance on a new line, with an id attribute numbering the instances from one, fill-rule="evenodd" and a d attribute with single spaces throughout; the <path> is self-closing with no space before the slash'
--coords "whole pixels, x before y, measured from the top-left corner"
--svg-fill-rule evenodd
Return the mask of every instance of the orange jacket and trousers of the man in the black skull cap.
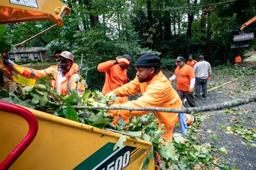
<path id="1" fill-rule="evenodd" d="M 128 101 L 123 104 L 112 104 L 111 107 L 167 107 L 167 108 L 181 108 L 182 102 L 177 92 L 172 88 L 170 81 L 165 77 L 162 72 L 155 75 L 154 78 L 148 82 L 140 83 L 137 76 L 134 80 L 119 87 L 113 92 L 117 96 L 135 95 L 139 91 L 142 96 L 137 100 Z M 150 113 L 150 111 L 128 111 L 128 110 L 110 110 L 110 115 L 121 115 L 123 117 L 133 117 Z M 166 137 L 166 141 L 172 141 L 172 130 L 175 124 L 179 121 L 178 113 L 168 113 L 153 111 L 159 119 L 159 130 L 161 124 L 165 125 L 167 133 L 162 137 Z M 189 118 L 190 115 L 187 115 Z M 188 119 L 187 119 L 188 120 Z M 193 120 L 188 123 L 193 123 Z"/>

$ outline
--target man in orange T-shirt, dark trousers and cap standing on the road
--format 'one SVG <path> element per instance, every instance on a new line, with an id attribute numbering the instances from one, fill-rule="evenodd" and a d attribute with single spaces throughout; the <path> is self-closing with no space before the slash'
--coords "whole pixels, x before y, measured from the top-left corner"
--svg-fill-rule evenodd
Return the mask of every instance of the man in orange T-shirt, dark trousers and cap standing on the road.
<path id="1" fill-rule="evenodd" d="M 169 79 L 170 82 L 177 78 L 177 93 L 183 103 L 186 97 L 190 107 L 196 107 L 196 102 L 193 96 L 195 74 L 192 67 L 185 64 L 185 58 L 179 56 L 177 58 L 178 67 L 174 71 L 174 75 Z"/>

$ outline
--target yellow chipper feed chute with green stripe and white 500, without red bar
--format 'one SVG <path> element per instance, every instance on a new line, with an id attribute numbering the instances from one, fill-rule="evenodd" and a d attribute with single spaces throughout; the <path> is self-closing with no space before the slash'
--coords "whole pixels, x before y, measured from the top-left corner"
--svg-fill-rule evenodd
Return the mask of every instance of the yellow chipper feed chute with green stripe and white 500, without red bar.
<path id="1" fill-rule="evenodd" d="M 26 109 L 35 115 L 38 132 L 9 170 L 140 170 L 153 147 L 151 142 L 126 136 L 124 146 L 113 151 L 121 134 Z M 25 119 L 0 108 L 0 163 L 28 129 Z M 153 159 L 148 170 L 154 168 Z"/>

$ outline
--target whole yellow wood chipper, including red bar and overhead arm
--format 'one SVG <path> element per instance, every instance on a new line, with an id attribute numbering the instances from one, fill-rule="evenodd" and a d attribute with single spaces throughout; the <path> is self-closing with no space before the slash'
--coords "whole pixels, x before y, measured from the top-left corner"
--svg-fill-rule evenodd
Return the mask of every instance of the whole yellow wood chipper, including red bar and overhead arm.
<path id="1" fill-rule="evenodd" d="M 48 19 L 62 26 L 69 13 L 59 0 L 0 1 L 0 24 Z M 0 170 L 137 170 L 153 147 L 126 136 L 113 151 L 121 134 L 3 101 L 0 136 Z"/>

